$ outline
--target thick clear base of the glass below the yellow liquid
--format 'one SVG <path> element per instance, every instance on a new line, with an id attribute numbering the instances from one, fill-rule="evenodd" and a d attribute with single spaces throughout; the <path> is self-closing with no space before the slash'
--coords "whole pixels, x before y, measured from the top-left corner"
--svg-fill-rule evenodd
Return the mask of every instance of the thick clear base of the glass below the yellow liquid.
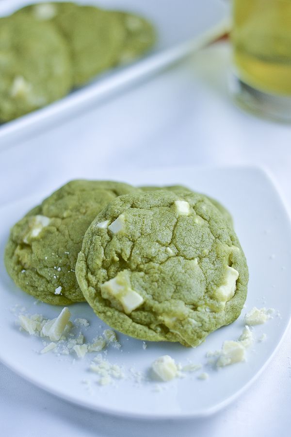
<path id="1" fill-rule="evenodd" d="M 245 84 L 235 74 L 229 77 L 229 88 L 235 101 L 243 109 L 259 117 L 291 123 L 291 96 L 268 94 Z"/>

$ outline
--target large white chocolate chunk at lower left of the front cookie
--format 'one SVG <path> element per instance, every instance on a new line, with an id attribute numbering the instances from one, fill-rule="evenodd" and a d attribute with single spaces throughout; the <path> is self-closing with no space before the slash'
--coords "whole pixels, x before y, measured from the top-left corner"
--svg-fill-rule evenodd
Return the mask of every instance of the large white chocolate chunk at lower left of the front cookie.
<path id="1" fill-rule="evenodd" d="M 130 314 L 144 303 L 144 298 L 130 288 L 124 272 L 117 273 L 115 278 L 104 282 L 100 288 L 102 296 L 107 299 L 110 299 L 110 297 L 117 299 L 126 314 Z"/>

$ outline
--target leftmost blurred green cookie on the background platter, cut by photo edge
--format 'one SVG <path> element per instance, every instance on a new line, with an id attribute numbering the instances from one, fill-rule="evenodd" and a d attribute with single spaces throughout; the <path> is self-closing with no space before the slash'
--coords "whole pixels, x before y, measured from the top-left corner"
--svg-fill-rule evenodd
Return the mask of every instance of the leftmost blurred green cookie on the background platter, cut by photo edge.
<path id="1" fill-rule="evenodd" d="M 0 18 L 0 120 L 55 101 L 72 86 L 63 36 L 50 23 L 13 15 Z"/>

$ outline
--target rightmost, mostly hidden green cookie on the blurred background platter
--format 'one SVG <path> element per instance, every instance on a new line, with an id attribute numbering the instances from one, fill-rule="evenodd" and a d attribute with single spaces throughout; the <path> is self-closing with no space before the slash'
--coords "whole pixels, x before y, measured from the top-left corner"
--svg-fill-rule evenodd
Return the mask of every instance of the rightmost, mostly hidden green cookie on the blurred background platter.
<path id="1" fill-rule="evenodd" d="M 128 63 L 150 50 L 156 42 L 154 26 L 144 17 L 116 12 L 126 30 L 126 38 L 118 55 L 118 63 Z"/>

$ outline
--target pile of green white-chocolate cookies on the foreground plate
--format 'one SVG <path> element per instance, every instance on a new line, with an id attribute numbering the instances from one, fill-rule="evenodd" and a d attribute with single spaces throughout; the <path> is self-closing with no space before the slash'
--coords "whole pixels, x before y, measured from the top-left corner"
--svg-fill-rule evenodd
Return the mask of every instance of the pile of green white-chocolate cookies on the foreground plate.
<path id="1" fill-rule="evenodd" d="M 14 225 L 5 264 L 42 302 L 186 346 L 237 319 L 248 282 L 230 214 L 183 186 L 71 181 Z"/>

